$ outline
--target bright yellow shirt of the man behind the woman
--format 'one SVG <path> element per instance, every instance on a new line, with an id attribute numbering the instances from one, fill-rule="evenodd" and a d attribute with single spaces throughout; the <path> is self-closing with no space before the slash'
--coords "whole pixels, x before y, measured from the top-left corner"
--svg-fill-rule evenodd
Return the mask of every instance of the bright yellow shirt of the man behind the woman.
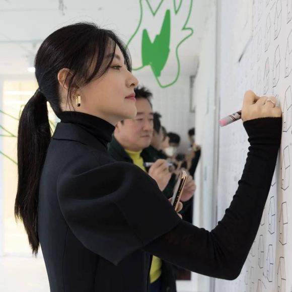
<path id="1" fill-rule="evenodd" d="M 143 166 L 143 159 L 140 156 L 141 151 L 138 151 L 138 152 L 129 151 L 129 150 L 125 150 L 125 151 L 129 155 L 129 157 L 132 159 L 133 163 L 146 172 L 146 169 Z M 161 265 L 162 265 L 161 259 L 156 256 L 153 256 L 151 269 L 150 269 L 151 283 L 155 282 L 161 276 Z"/>

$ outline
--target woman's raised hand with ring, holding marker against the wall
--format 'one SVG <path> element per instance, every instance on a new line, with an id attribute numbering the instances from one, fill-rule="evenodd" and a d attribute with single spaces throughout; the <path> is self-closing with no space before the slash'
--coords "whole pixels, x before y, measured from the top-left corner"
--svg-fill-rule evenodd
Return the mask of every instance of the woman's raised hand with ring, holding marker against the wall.
<path id="1" fill-rule="evenodd" d="M 259 97 L 251 90 L 244 95 L 241 118 L 243 121 L 266 117 L 281 117 L 282 111 L 276 106 L 275 97 Z"/>

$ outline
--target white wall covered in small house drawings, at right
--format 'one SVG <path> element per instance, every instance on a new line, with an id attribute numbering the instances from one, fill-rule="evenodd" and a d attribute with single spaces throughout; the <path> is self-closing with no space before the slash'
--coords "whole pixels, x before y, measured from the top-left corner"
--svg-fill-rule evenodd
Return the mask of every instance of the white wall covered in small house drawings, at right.
<path id="1" fill-rule="evenodd" d="M 279 104 L 283 112 L 286 112 L 286 109 L 283 108 L 285 100 L 289 101 L 287 116 L 290 121 L 292 107 L 289 106 L 292 102 L 292 97 L 287 89 L 292 84 L 292 74 L 289 72 L 291 62 L 289 63 L 289 58 L 285 54 L 287 52 L 287 45 L 289 46 L 287 41 L 288 35 L 292 31 L 292 21 L 290 18 L 291 1 L 253 1 L 252 39 L 240 62 L 236 61 L 234 53 L 237 46 L 237 37 L 240 36 L 240 31 L 236 29 L 235 23 L 241 17 L 240 14 L 242 12 L 239 9 L 241 3 L 233 0 L 224 0 L 220 4 L 221 84 L 220 91 L 218 92 L 218 95 L 221 96 L 220 115 L 225 116 L 239 110 L 242 105 L 244 92 L 251 88 L 258 95 L 278 95 Z M 269 18 L 270 22 L 267 21 Z M 279 71 L 273 66 L 278 46 L 280 52 Z M 289 50 L 288 48 L 288 52 Z M 267 60 L 269 62 L 269 74 L 265 75 Z M 285 65 L 289 68 L 289 74 L 286 74 Z M 273 84 L 273 75 L 276 75 L 277 72 L 279 72 L 279 80 Z M 279 240 L 282 204 L 287 206 L 287 212 L 286 210 L 285 212 L 288 220 L 292 210 L 291 187 L 286 188 L 282 186 L 283 188 L 281 188 L 282 179 L 285 179 L 287 186 L 290 183 L 288 171 L 291 161 L 291 129 L 290 127 L 287 131 L 282 132 L 282 144 L 274 182 L 267 198 L 258 234 L 242 272 L 238 279 L 234 281 L 216 280 L 215 291 L 288 292 L 292 289 L 290 222 L 287 222 L 286 242 Z M 247 148 L 247 135 L 241 122 L 236 122 L 220 130 L 218 220 L 224 214 L 225 208 L 229 206 L 232 196 L 237 189 L 237 182 L 240 179 L 246 160 Z M 283 156 L 284 149 L 289 150 L 285 157 Z M 283 161 L 286 162 L 286 166 L 282 165 Z M 281 175 L 282 172 L 284 173 L 285 168 L 286 178 L 284 178 L 284 175 Z M 274 206 L 274 212 L 272 210 L 273 207 L 269 209 L 270 205 Z M 271 225 L 269 225 L 269 221 Z M 270 227 L 273 224 L 274 228 L 271 229 Z M 263 255 L 261 254 L 262 247 Z M 271 257 L 268 256 L 269 250 L 273 250 L 272 254 L 270 253 Z M 263 263 L 259 264 L 261 256 L 263 256 Z M 281 264 L 282 262 L 283 264 Z M 278 280 L 279 267 L 281 270 L 279 274 L 282 274 L 282 280 Z M 268 272 L 269 269 L 271 273 Z"/>

